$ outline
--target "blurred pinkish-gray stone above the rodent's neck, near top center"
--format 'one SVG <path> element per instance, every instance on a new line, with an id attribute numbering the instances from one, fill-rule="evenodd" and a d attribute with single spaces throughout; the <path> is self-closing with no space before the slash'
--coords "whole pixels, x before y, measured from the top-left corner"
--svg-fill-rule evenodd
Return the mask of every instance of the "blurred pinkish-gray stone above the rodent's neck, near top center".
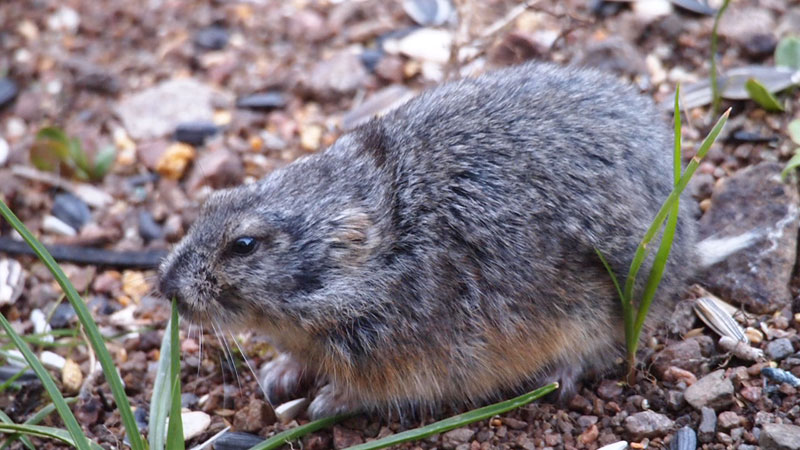
<path id="1" fill-rule="evenodd" d="M 367 70 L 358 56 L 344 50 L 314 66 L 308 88 L 321 99 L 336 99 L 355 92 L 367 76 Z"/>

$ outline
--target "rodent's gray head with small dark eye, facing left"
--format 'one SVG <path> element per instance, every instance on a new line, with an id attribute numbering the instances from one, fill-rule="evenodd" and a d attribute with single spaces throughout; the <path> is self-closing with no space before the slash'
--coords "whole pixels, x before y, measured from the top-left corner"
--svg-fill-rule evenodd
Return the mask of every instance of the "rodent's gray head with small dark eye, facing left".
<path id="1" fill-rule="evenodd" d="M 325 309 L 326 291 L 363 269 L 379 242 L 366 185 L 317 156 L 206 201 L 159 269 L 159 290 L 185 318 L 282 328 Z"/>

